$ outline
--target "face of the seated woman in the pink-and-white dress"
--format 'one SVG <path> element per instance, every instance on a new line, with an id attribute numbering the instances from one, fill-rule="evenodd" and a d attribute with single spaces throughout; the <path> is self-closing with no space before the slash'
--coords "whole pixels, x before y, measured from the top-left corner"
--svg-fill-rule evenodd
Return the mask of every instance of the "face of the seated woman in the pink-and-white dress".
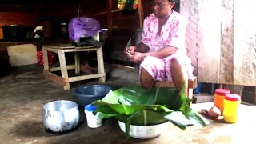
<path id="1" fill-rule="evenodd" d="M 169 2 L 168 0 L 154 0 L 153 10 L 154 14 L 158 17 L 166 17 L 170 14 L 170 11 L 174 7 L 175 2 Z"/>

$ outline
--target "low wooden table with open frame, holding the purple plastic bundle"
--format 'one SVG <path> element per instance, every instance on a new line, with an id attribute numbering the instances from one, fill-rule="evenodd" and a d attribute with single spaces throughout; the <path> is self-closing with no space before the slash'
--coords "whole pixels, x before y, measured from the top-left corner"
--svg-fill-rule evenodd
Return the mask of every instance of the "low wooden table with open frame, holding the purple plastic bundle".
<path id="1" fill-rule="evenodd" d="M 47 51 L 58 54 L 59 63 L 60 63 L 59 67 L 49 68 Z M 98 70 L 90 66 L 85 66 L 80 64 L 79 52 L 82 52 L 82 51 L 96 51 Z M 43 62 L 44 62 L 43 74 L 45 78 L 50 79 L 51 81 L 64 86 L 64 90 L 70 90 L 70 82 L 82 81 L 82 80 L 91 79 L 91 78 L 99 78 L 99 81 L 102 83 L 106 81 L 102 47 L 95 47 L 95 46 L 75 47 L 75 46 L 67 46 L 67 45 L 54 45 L 54 46 L 42 46 L 42 52 L 43 52 Z M 65 53 L 69 53 L 69 52 L 74 52 L 75 64 L 66 66 Z M 86 75 L 69 77 L 67 70 L 73 70 L 73 69 L 75 70 L 75 74 L 80 74 L 80 71 L 82 71 L 86 73 Z M 62 76 L 58 76 L 56 74 L 51 73 L 53 71 L 59 71 L 59 70 L 61 70 Z"/>

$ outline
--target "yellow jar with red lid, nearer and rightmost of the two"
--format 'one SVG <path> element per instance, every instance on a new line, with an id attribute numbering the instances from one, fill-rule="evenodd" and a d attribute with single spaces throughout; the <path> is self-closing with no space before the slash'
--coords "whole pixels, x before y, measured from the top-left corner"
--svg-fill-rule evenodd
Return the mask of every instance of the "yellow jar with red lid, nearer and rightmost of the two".
<path id="1" fill-rule="evenodd" d="M 238 107 L 241 104 L 241 96 L 238 94 L 226 94 L 224 103 L 224 120 L 230 123 L 238 122 Z"/>

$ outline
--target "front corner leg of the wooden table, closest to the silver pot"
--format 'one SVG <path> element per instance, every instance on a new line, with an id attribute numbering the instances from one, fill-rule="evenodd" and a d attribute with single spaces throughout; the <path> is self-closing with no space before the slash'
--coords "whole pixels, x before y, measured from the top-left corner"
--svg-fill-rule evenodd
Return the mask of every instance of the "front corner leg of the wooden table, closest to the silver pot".
<path id="1" fill-rule="evenodd" d="M 66 58 L 65 52 L 62 50 L 58 50 L 58 58 L 59 64 L 62 71 L 62 78 L 68 78 L 67 69 L 66 69 Z M 66 86 L 64 86 L 64 90 L 70 90 L 70 82 L 66 82 Z"/>

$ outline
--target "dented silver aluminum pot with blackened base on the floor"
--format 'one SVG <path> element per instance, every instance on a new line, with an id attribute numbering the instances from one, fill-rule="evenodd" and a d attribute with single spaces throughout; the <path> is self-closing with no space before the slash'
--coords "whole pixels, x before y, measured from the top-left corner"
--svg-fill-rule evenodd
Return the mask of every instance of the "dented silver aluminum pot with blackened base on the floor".
<path id="1" fill-rule="evenodd" d="M 63 132 L 78 126 L 78 104 L 72 101 L 59 100 L 43 106 L 43 123 L 46 130 Z"/>

